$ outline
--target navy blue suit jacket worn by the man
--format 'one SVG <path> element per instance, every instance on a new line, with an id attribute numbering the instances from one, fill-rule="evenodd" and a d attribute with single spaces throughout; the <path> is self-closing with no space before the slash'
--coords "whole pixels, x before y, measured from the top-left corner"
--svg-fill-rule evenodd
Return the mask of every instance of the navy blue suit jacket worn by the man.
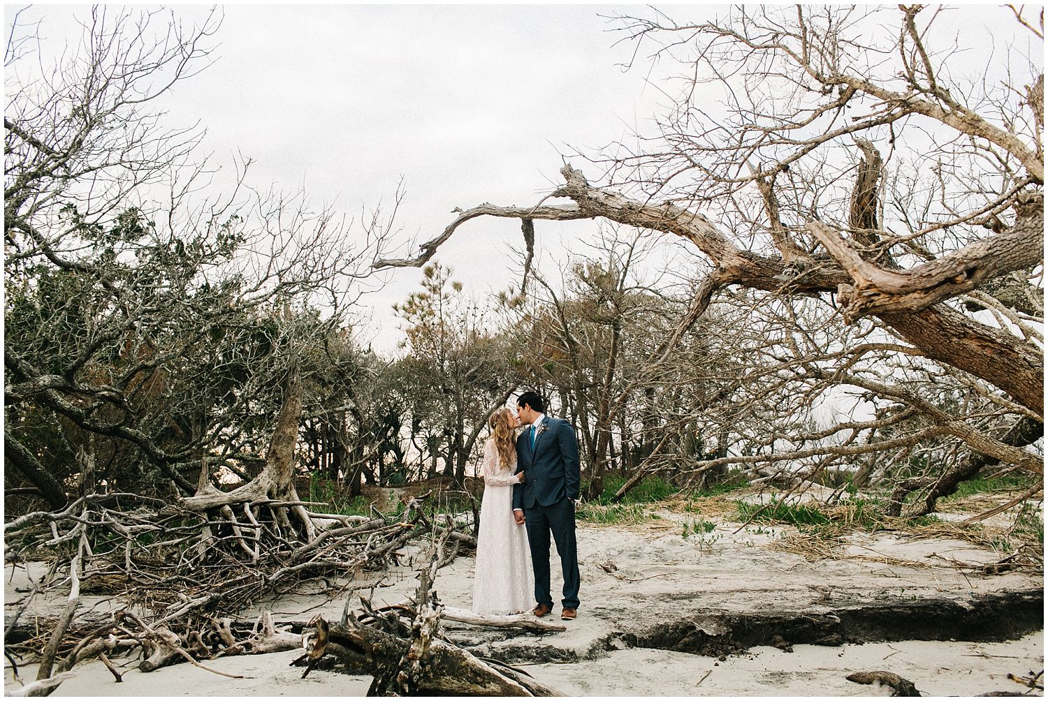
<path id="1" fill-rule="evenodd" d="M 514 485 L 514 508 L 550 506 L 565 497 L 578 499 L 578 441 L 571 424 L 545 417 L 531 447 L 530 426 L 517 437 L 517 472 L 524 484 Z"/>

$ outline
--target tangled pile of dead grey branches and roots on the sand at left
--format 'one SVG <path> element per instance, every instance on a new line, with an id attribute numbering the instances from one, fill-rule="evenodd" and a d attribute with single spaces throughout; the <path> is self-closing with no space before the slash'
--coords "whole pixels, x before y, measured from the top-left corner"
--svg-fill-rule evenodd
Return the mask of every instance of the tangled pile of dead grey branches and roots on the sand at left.
<path id="1" fill-rule="evenodd" d="M 59 512 L 28 513 L 5 527 L 5 560 L 46 558 L 50 566 L 5 621 L 8 659 L 39 655 L 38 681 L 45 681 L 52 670 L 58 676 L 117 651 L 140 649 L 138 666 L 151 672 L 183 659 L 197 663 L 297 648 L 300 637 L 278 631 L 267 615 L 255 626 L 233 616 L 307 583 L 331 586 L 364 570 L 385 570 L 399 564 L 401 548 L 424 536 L 452 542 L 450 554 L 434 567 L 447 564 L 460 545 L 476 542 L 451 521 L 435 523 L 424 508 L 428 496 L 408 502 L 398 520 L 307 510 L 312 524 L 324 526 L 308 540 L 306 529 L 288 518 L 292 508 L 314 506 L 307 502 L 262 499 L 196 511 L 112 494 L 82 498 Z M 62 615 L 22 620 L 35 596 L 67 589 Z M 113 595 L 121 606 L 77 616 L 81 592 Z"/>

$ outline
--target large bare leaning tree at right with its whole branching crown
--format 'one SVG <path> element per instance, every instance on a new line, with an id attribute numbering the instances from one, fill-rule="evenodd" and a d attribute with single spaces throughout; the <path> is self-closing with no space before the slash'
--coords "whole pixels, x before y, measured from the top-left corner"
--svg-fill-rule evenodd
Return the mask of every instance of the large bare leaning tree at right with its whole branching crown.
<path id="1" fill-rule="evenodd" d="M 531 222 L 607 219 L 669 234 L 694 245 L 708 263 L 677 335 L 715 300 L 733 299 L 733 289 L 786 302 L 817 300 L 827 314 L 864 333 L 875 328 L 878 335 L 890 334 L 879 344 L 889 363 L 912 357 L 925 367 L 937 364 L 951 381 L 992 406 L 995 422 L 987 424 L 978 412 L 973 419 L 951 416 L 917 397 L 914 408 L 924 421 L 919 429 L 874 446 L 865 444 L 865 437 L 879 428 L 877 420 L 845 422 L 842 428 L 856 437 L 853 444 L 838 446 L 838 455 L 881 450 L 890 464 L 901 459 L 889 457 L 892 453 L 904 456 L 922 440 L 948 434 L 973 454 L 1024 462 L 1025 454 L 1006 444 L 1004 436 L 1023 418 L 1040 424 L 1044 413 L 1044 359 L 1035 328 L 1043 317 L 1038 278 L 1044 248 L 1038 126 L 1043 107 L 1036 90 L 1043 78 L 1031 60 L 989 67 L 1004 75 L 1025 71 L 1022 75 L 1029 74 L 1034 86 L 1025 93 L 984 82 L 985 93 L 974 95 L 949 85 L 952 76 L 930 59 L 936 54 L 935 12 L 923 6 L 740 7 L 723 21 L 698 23 L 675 23 L 664 15 L 623 17 L 629 38 L 654 45 L 654 58 L 677 59 L 689 69 L 707 66 L 709 78 L 690 72 L 686 80 L 693 88 L 701 82 L 726 88 L 733 95 L 726 116 L 704 123 L 704 106 L 696 101 L 707 93 L 685 90 L 658 122 L 657 133 L 638 135 L 639 146 L 581 156 L 603 169 L 604 183 L 591 183 L 565 166 L 563 184 L 534 206 L 485 203 L 461 211 L 421 245 L 418 256 L 385 259 L 376 266 L 421 265 L 459 226 L 483 216 Z M 892 16 L 890 22 L 886 15 Z M 891 30 L 885 29 L 888 24 Z M 1030 28 L 1026 22 L 1022 26 Z M 879 39 L 860 37 L 856 27 L 868 28 L 870 36 L 883 31 L 881 38 L 895 42 L 894 63 L 856 72 L 861 64 L 852 57 L 881 56 L 875 45 Z M 948 163 L 949 175 L 943 165 L 924 177 L 917 166 L 930 157 L 930 132 L 941 137 L 934 158 Z M 856 145 L 858 158 L 851 155 Z M 996 183 L 992 192 L 986 190 L 988 181 Z M 566 203 L 547 203 L 551 198 Z M 988 293 L 998 288 L 997 281 L 1014 277 L 1023 295 L 1035 303 L 1032 315 L 1008 306 L 1004 300 L 1009 298 Z M 958 304 L 978 300 L 992 309 L 997 323 L 977 319 Z M 1029 303 L 1023 308 L 1029 311 Z M 800 335 L 812 331 L 785 328 Z M 816 371 L 839 362 L 840 356 L 799 358 L 784 363 L 782 372 L 803 368 L 825 391 L 860 374 L 846 366 L 829 379 L 818 376 Z M 888 387 L 893 397 L 907 394 L 904 387 L 883 381 L 867 386 L 874 393 Z M 944 384 L 943 392 L 949 387 Z M 768 453 L 795 460 L 820 451 L 805 445 Z M 700 468 L 737 462 L 737 457 L 705 461 Z"/>

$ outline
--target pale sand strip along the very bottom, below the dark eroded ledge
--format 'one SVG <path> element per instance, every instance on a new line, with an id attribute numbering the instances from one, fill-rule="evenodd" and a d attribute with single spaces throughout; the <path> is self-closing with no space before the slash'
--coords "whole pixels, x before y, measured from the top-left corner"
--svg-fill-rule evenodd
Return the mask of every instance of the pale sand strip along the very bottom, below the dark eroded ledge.
<path id="1" fill-rule="evenodd" d="M 526 664 L 537 679 L 569 696 L 890 696 L 847 681 L 857 670 L 889 670 L 927 696 L 975 696 L 988 691 L 1025 691 L 1007 674 L 1040 671 L 1044 635 L 998 643 L 902 641 L 825 648 L 795 645 L 792 654 L 754 648 L 745 655 L 715 658 L 660 650 L 621 650 L 573 664 Z M 288 666 L 298 651 L 211 660 L 206 664 L 245 679 L 228 679 L 189 664 L 143 674 L 133 664 L 124 682 L 100 663 L 77 667 L 77 678 L 56 689 L 57 697 L 258 697 L 364 696 L 369 677 Z M 35 667 L 22 671 L 32 679 Z M 708 675 L 706 673 L 709 673 Z M 10 673 L 7 673 L 8 680 Z M 12 687 L 8 681 L 7 688 Z"/>

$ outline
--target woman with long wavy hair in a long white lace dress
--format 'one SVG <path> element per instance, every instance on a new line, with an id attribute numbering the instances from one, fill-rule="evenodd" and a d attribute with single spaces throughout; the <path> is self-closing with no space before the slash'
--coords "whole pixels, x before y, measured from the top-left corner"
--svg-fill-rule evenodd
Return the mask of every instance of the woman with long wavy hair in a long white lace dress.
<path id="1" fill-rule="evenodd" d="M 480 535 L 473 582 L 473 611 L 486 614 L 523 613 L 531 609 L 531 557 L 524 526 L 514 521 L 514 485 L 524 481 L 517 467 L 515 430 L 520 419 L 500 409 L 487 420 L 492 434 L 484 442 L 484 497 L 480 504 Z"/>

